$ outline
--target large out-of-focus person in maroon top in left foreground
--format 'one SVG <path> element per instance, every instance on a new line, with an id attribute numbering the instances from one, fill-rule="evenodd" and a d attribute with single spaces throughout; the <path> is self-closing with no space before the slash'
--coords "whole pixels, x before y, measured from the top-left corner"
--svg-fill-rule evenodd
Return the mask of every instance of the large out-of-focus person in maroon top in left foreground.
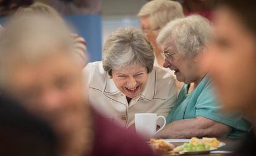
<path id="1" fill-rule="evenodd" d="M 153 155 L 85 100 L 70 30 L 41 14 L 12 17 L 0 35 L 0 88 L 54 129 L 58 155 Z M 86 73 L 85 73 L 86 74 Z"/>

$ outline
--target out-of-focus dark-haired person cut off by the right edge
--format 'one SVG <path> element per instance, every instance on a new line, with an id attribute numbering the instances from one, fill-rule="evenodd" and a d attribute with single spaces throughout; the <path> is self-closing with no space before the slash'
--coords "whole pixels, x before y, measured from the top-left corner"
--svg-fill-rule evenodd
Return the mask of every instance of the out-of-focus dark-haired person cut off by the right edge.
<path id="1" fill-rule="evenodd" d="M 244 113 L 256 125 L 256 2 L 218 1 L 215 33 L 203 65 L 213 78 L 224 110 Z M 252 128 L 238 154 L 256 155 Z"/>

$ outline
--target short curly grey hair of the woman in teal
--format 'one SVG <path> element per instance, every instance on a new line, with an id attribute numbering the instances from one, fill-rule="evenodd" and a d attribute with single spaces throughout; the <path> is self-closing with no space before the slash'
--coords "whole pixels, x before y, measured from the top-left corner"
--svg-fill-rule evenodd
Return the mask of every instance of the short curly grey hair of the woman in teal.
<path id="1" fill-rule="evenodd" d="M 207 18 L 190 15 L 169 22 L 160 31 L 156 42 L 160 45 L 167 39 L 173 39 L 178 52 L 195 56 L 207 44 L 212 35 L 212 27 Z"/>

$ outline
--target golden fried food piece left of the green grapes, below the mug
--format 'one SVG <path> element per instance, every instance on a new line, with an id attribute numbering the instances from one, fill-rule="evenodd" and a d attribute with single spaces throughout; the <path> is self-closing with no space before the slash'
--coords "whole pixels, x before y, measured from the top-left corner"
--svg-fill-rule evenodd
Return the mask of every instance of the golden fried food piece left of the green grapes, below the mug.
<path id="1" fill-rule="evenodd" d="M 168 154 L 175 147 L 173 144 L 166 142 L 163 139 L 150 139 L 150 146 L 155 152 L 161 154 Z"/>

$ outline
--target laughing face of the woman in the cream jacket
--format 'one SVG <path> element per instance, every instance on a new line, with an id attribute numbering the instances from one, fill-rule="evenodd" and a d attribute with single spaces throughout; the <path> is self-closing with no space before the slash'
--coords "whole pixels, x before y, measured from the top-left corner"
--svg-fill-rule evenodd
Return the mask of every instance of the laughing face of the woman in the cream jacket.
<path id="1" fill-rule="evenodd" d="M 134 98 L 139 96 L 145 88 L 148 73 L 145 67 L 134 65 L 128 70 L 112 70 L 112 78 L 119 91 L 129 98 Z"/>

